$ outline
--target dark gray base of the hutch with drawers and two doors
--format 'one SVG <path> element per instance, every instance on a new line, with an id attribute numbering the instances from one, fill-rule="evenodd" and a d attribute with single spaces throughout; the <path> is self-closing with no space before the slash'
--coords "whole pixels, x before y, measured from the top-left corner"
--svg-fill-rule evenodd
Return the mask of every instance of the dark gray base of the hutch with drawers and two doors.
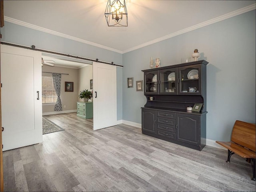
<path id="1" fill-rule="evenodd" d="M 201 151 L 206 146 L 206 113 L 142 108 L 142 133 Z"/>

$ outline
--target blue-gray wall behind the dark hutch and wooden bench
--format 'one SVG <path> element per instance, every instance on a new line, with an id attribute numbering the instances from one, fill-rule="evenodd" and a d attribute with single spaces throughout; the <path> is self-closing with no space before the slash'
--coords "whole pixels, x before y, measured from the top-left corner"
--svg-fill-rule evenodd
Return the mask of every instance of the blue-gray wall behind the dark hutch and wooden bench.
<path id="1" fill-rule="evenodd" d="M 207 135 L 229 140 L 235 120 L 255 122 L 255 10 L 123 54 L 123 119 L 141 123 L 146 98 L 127 88 L 127 78 L 143 80 L 150 57 L 161 66 L 190 61 L 194 49 L 207 60 Z M 134 84 L 135 85 L 135 84 Z"/>

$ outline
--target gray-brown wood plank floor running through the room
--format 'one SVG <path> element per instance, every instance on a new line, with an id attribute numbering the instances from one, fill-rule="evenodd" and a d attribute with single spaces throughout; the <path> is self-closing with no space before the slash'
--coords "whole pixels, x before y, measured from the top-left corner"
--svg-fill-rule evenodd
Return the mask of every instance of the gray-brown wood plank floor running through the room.
<path id="1" fill-rule="evenodd" d="M 3 152 L 5 191 L 255 191 L 252 164 L 206 146 L 201 152 L 126 124 L 93 131 L 92 119 L 49 115 L 64 131 Z"/>

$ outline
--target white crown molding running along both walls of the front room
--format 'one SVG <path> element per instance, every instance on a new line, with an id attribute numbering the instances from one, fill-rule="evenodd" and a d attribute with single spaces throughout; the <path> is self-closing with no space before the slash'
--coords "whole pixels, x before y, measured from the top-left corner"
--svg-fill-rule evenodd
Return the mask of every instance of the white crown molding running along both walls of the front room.
<path id="1" fill-rule="evenodd" d="M 250 6 L 238 9 L 238 10 L 230 12 L 228 14 L 224 14 L 222 16 L 213 18 L 213 19 L 208 20 L 206 22 L 202 22 L 200 24 L 196 24 L 194 26 L 182 29 L 182 30 L 174 32 L 172 34 L 168 34 L 168 35 L 163 36 L 161 38 L 157 38 L 155 40 L 146 42 L 144 44 L 135 46 L 133 48 L 130 48 L 130 49 L 127 49 L 127 50 L 124 50 L 124 51 L 116 50 L 116 49 L 113 49 L 113 48 L 110 48 L 110 47 L 107 47 L 107 46 L 103 46 L 103 45 L 100 45 L 100 44 L 96 44 L 96 43 L 93 43 L 93 42 L 90 42 L 90 41 L 82 40 L 80 38 L 76 38 L 76 37 L 69 36 L 69 35 L 66 35 L 66 34 L 62 34 L 62 33 L 59 33 L 59 32 L 53 31 L 53 30 L 42 28 L 42 27 L 32 25 L 32 24 L 29 24 L 29 23 L 26 23 L 26 22 L 22 22 L 20 20 L 16 20 L 16 19 L 13 19 L 13 18 L 10 18 L 10 17 L 4 16 L 4 20 L 7 21 L 7 22 L 11 22 L 11 23 L 18 24 L 18 25 L 21 25 L 21 26 L 25 26 L 25 27 L 28 27 L 28 28 L 32 28 L 32 29 L 35 29 L 35 30 L 46 32 L 46 33 L 49 33 L 49 34 L 53 34 L 53 35 L 56 35 L 56 36 L 68 38 L 68 39 L 71 39 L 71 40 L 74 40 L 74 41 L 82 42 L 82 43 L 85 43 L 85 44 L 89 44 L 89 45 L 96 46 L 96 47 L 99 47 L 99 48 L 103 48 L 103 49 L 106 49 L 106 50 L 110 50 L 110 51 L 113 51 L 113 52 L 124 54 L 124 53 L 130 52 L 130 51 L 133 51 L 133 50 L 136 50 L 136 49 L 139 49 L 139 48 L 142 48 L 142 47 L 145 47 L 145 46 L 148 46 L 148 45 L 151 45 L 151 44 L 154 44 L 154 43 L 157 43 L 157 42 L 160 42 L 160 41 L 163 41 L 163 40 L 175 37 L 175 36 L 178 36 L 180 34 L 184 34 L 186 32 L 190 32 L 190 31 L 202 28 L 204 26 L 208 26 L 210 24 L 214 24 L 216 22 L 220 22 L 222 20 L 225 20 L 225 19 L 237 16 L 237 15 L 249 12 L 249 11 L 254 10 L 254 9 L 256 9 L 256 4 L 252 4 Z"/>

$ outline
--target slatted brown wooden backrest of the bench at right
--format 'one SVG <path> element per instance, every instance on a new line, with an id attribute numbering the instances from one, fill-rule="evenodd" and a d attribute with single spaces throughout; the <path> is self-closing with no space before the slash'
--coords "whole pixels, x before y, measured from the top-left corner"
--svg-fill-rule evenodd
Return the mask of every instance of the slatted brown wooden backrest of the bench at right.
<path id="1" fill-rule="evenodd" d="M 236 120 L 231 141 L 255 152 L 255 124 Z"/>

